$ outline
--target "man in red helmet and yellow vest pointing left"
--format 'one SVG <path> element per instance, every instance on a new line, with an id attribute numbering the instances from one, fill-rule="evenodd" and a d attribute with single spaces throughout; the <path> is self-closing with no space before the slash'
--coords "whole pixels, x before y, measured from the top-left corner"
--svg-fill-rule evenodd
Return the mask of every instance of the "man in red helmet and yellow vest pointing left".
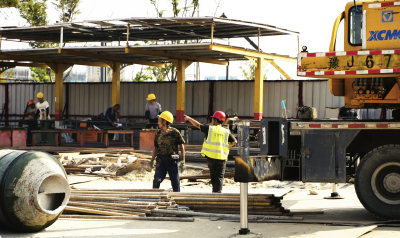
<path id="1" fill-rule="evenodd" d="M 202 125 L 187 115 L 184 116 L 185 121 L 200 129 L 205 135 L 201 155 L 207 158 L 213 187 L 212 191 L 213 193 L 220 193 L 224 182 L 229 145 L 234 146 L 237 141 L 228 129 L 221 126 L 226 119 L 224 112 L 216 111 L 211 118 L 212 125 L 209 126 Z"/>

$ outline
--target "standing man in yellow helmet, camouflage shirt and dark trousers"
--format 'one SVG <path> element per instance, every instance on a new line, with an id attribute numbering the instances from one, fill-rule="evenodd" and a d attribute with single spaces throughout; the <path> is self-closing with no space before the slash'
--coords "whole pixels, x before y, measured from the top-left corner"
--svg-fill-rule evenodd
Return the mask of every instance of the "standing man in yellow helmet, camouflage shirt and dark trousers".
<path id="1" fill-rule="evenodd" d="M 156 161 L 153 188 L 160 188 L 160 184 L 168 172 L 172 189 L 174 192 L 179 192 L 178 150 L 182 155 L 180 169 L 183 170 L 185 165 L 185 147 L 183 144 L 185 140 L 177 129 L 170 126 L 173 121 L 174 117 L 169 111 L 164 111 L 158 117 L 158 126 L 160 129 L 154 138 L 154 150 L 150 166 L 154 167 L 154 161 Z"/>

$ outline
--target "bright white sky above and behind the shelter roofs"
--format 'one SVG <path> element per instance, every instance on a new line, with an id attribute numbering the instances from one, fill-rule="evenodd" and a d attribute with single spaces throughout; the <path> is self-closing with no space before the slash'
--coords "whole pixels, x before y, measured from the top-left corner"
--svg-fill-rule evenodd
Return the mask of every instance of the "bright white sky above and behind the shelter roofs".
<path id="1" fill-rule="evenodd" d="M 190 0 L 188 1 L 190 2 Z M 180 2 L 184 2 L 184 0 L 180 0 Z M 231 19 L 263 23 L 297 31 L 300 33 L 300 48 L 306 45 L 309 52 L 325 52 L 329 48 L 333 23 L 344 10 L 347 2 L 349 0 L 200 0 L 199 16 L 218 17 L 224 13 Z M 170 0 L 158 0 L 158 3 L 160 9 L 170 9 Z M 52 6 L 49 5 L 49 23 L 54 23 L 57 15 L 51 8 Z M 79 10 L 80 14 L 76 16 L 75 21 L 156 16 L 150 0 L 81 0 Z M 171 16 L 170 12 L 167 11 L 165 16 Z M 0 13 L 4 14 L 4 10 Z M 15 14 L 5 14 L 6 21 L 0 18 L 0 26 L 23 24 L 23 21 L 14 19 L 13 15 Z M 338 41 L 343 41 L 343 37 Z M 255 42 L 257 42 L 256 39 Z M 240 44 L 245 48 L 251 48 L 246 42 Z M 7 45 L 3 47 L 7 47 Z M 261 49 L 268 53 L 296 57 L 297 37 L 264 37 L 261 41 Z M 295 64 L 283 62 L 278 62 L 278 64 L 296 78 Z M 191 70 L 188 69 L 186 74 L 191 75 Z M 225 70 L 224 66 L 202 64 L 201 77 L 207 74 L 224 74 Z M 237 64 L 232 64 L 230 70 L 232 75 L 240 74 L 240 66 Z M 272 67 L 266 70 L 269 73 L 268 79 L 280 78 L 280 74 Z"/>

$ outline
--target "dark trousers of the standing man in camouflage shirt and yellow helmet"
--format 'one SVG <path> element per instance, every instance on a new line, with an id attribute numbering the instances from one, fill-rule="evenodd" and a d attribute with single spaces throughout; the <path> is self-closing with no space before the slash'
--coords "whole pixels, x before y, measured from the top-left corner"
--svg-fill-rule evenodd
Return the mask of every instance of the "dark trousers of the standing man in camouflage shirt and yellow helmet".
<path id="1" fill-rule="evenodd" d="M 161 182 L 165 176 L 169 175 L 171 185 L 174 192 L 180 192 L 180 181 L 178 171 L 178 160 L 174 160 L 171 156 L 157 155 L 156 172 L 154 173 L 153 188 L 160 188 Z"/>

